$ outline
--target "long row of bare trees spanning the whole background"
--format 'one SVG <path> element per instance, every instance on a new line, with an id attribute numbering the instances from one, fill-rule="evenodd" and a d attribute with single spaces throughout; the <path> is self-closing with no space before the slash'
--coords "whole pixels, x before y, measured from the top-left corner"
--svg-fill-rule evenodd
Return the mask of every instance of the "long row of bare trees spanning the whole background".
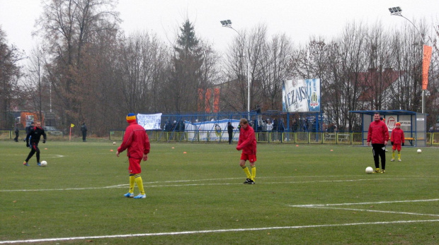
<path id="1" fill-rule="evenodd" d="M 60 129 L 86 121 L 93 133 L 104 136 L 122 129 L 128 112 L 198 112 L 206 102 L 199 91 L 213 87 L 221 88 L 221 112 L 242 112 L 249 74 L 250 107 L 259 104 L 263 110 L 281 110 L 283 80 L 320 78 L 323 112 L 338 129 L 352 130 L 358 124 L 352 110 L 421 112 L 422 44 L 427 42 L 434 48 L 426 113 L 433 123 L 438 116 L 433 37 L 439 34 L 427 35 L 431 28 L 425 23 L 416 23 L 423 35 L 411 25 L 389 31 L 380 23 L 350 23 L 331 40 L 310 37 L 301 45 L 285 34 L 269 37 L 266 26 L 257 25 L 235 35 L 220 55 L 197 35 L 190 20 L 183 22 L 175 42 L 166 44 L 151 32 L 123 33 L 113 0 L 44 4 L 35 32 L 41 42 L 25 68 L 18 66 L 21 54 L 7 45 L 0 28 L 0 127 L 10 125 L 6 112 L 11 109 L 53 111 Z M 395 72 L 396 82 L 389 85 L 394 77 L 388 74 Z"/>

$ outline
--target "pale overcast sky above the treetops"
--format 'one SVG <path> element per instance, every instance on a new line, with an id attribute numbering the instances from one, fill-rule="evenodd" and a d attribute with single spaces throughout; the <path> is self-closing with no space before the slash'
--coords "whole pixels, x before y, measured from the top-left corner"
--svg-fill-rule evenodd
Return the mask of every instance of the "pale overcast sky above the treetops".
<path id="1" fill-rule="evenodd" d="M 198 37 L 224 52 L 237 34 L 222 28 L 220 20 L 232 20 L 238 31 L 263 23 L 269 35 L 285 33 L 298 44 L 310 36 L 334 37 L 354 20 L 370 25 L 380 21 L 386 28 L 397 28 L 407 20 L 390 16 L 388 8 L 393 6 L 400 6 L 409 20 L 439 23 L 439 0 L 120 0 L 116 11 L 127 34 L 147 30 L 164 42 L 172 42 L 183 20 L 189 18 Z M 9 44 L 29 54 L 35 46 L 30 33 L 41 9 L 39 0 L 0 0 L 0 25 Z"/>

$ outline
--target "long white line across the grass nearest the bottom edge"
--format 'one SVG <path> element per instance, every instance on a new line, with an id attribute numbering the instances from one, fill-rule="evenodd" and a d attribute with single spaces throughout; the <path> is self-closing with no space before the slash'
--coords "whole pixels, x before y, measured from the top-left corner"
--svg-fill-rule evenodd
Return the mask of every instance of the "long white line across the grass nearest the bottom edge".
<path id="1" fill-rule="evenodd" d="M 420 222 L 439 222 L 439 220 L 399 220 L 399 221 L 387 221 L 387 222 L 363 222 L 363 223 L 329 224 L 329 225 L 298 225 L 298 226 L 287 226 L 287 227 L 209 229 L 209 230 L 187 231 L 187 232 L 120 234 L 120 235 L 90 236 L 90 237 L 59 237 L 59 238 L 47 238 L 47 239 L 0 241 L 0 244 L 32 243 L 32 242 L 44 242 L 44 241 L 69 241 L 69 240 L 79 240 L 79 239 L 82 240 L 82 239 L 106 239 L 106 238 L 123 238 L 123 237 L 176 236 L 176 235 L 182 235 L 182 234 L 206 234 L 206 233 L 219 233 L 219 232 L 247 232 L 247 231 L 261 231 L 261 230 L 267 230 L 267 229 L 305 229 L 305 228 L 319 228 L 319 227 L 344 227 L 344 226 L 353 226 L 353 225 L 388 225 L 388 224 L 406 224 L 406 223 L 420 223 Z"/>

